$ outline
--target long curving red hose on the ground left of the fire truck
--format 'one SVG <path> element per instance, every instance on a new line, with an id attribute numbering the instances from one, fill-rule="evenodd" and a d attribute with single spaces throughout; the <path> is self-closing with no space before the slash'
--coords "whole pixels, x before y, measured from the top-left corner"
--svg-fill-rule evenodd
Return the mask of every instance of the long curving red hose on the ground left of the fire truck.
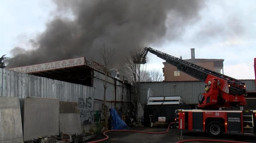
<path id="1" fill-rule="evenodd" d="M 107 130 L 103 132 L 103 135 L 106 136 L 106 138 L 100 139 L 100 140 L 96 140 L 96 141 L 91 141 L 91 142 L 87 142 L 87 143 L 98 143 L 98 142 L 102 142 L 105 141 L 109 138 L 108 135 L 106 135 L 107 132 L 112 132 L 112 131 L 127 131 L 127 132 L 140 132 L 140 133 L 149 133 L 149 134 L 164 134 L 167 133 L 170 130 L 170 125 L 174 124 L 174 122 L 170 123 L 168 125 L 168 128 L 165 132 L 149 132 L 149 131 L 138 131 L 138 130 L 124 130 L 124 129 L 118 129 L 118 130 Z"/>

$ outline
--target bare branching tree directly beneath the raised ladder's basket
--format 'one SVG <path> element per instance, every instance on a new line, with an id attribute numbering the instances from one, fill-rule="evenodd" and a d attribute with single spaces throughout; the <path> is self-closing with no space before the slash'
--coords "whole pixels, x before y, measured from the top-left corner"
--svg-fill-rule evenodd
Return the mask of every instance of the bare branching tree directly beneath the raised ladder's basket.
<path id="1" fill-rule="evenodd" d="M 135 108 L 136 119 L 138 120 L 138 105 L 139 105 L 139 85 L 140 82 L 144 80 L 146 75 L 147 64 L 137 64 L 139 61 L 141 54 L 143 53 L 143 48 L 135 48 L 128 57 L 122 62 L 122 73 L 129 81 L 131 85 L 133 85 L 133 97 L 132 103 Z"/>

